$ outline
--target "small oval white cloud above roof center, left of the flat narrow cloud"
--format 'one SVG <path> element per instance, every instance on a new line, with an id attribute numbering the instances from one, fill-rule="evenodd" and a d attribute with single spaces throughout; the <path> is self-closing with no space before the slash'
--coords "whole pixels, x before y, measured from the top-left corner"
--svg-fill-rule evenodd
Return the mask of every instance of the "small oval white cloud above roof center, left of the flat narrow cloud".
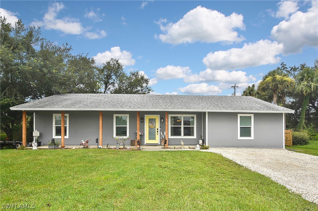
<path id="1" fill-rule="evenodd" d="M 167 67 L 157 69 L 156 77 L 159 80 L 179 79 L 186 77 L 190 72 L 189 67 L 168 65 Z"/>

